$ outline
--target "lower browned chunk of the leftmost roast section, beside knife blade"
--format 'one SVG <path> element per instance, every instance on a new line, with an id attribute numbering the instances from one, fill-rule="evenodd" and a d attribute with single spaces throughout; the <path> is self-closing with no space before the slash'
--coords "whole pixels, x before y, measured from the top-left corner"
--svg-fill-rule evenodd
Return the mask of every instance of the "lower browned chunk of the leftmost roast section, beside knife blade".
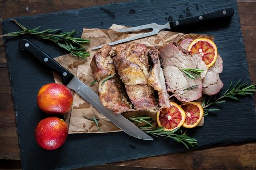
<path id="1" fill-rule="evenodd" d="M 107 80 L 103 85 L 101 85 L 102 81 L 99 82 L 98 93 L 103 106 L 116 114 L 134 110 L 117 76 Z"/>

